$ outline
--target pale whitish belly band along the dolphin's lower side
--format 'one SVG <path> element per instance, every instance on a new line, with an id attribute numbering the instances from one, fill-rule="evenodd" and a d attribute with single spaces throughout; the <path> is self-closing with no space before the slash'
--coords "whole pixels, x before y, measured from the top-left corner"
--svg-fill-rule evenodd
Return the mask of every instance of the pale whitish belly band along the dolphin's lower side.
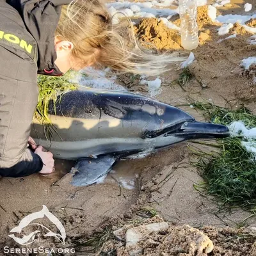
<path id="1" fill-rule="evenodd" d="M 168 140 L 168 141 L 167 141 Z M 49 141 L 38 139 L 36 143 L 50 150 L 54 157 L 60 159 L 79 159 L 83 157 L 96 157 L 106 154 L 136 154 L 138 152 L 150 152 L 156 148 L 168 147 L 182 141 L 182 138 L 169 136 L 165 138 L 141 139 L 141 138 L 98 138 L 92 140 L 77 141 Z"/>

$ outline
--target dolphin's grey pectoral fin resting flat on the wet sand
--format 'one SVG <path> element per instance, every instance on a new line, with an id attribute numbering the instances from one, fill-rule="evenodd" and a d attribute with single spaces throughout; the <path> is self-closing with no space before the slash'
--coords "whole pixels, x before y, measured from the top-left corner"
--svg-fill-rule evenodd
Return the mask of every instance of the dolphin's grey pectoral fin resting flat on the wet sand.
<path id="1" fill-rule="evenodd" d="M 114 163 L 115 157 L 113 156 L 80 159 L 71 170 L 71 173 L 74 173 L 71 184 L 89 186 L 98 183 L 106 177 Z"/>

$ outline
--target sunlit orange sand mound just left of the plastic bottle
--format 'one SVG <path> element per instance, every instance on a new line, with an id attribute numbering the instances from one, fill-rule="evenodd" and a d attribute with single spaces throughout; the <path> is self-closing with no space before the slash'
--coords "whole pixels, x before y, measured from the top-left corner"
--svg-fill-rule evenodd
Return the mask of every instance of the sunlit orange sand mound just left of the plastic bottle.
<path id="1" fill-rule="evenodd" d="M 162 20 L 142 19 L 136 26 L 140 44 L 149 49 L 179 50 L 181 40 L 179 31 L 167 28 Z"/>

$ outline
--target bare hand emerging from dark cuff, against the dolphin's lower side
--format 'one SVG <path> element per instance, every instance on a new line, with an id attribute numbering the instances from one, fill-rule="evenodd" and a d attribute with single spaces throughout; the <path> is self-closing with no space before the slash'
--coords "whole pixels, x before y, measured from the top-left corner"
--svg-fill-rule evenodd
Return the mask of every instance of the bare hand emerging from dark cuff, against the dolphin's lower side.
<path id="1" fill-rule="evenodd" d="M 54 159 L 51 152 L 46 152 L 45 148 L 38 146 L 35 150 L 35 154 L 38 154 L 44 163 L 44 166 L 39 173 L 49 174 L 54 172 Z"/>

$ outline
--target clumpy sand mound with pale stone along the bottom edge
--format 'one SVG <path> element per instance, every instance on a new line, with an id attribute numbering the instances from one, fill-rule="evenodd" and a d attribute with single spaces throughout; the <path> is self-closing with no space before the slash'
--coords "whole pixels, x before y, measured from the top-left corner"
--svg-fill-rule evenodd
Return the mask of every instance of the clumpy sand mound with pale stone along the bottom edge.
<path id="1" fill-rule="evenodd" d="M 173 226 L 158 216 L 136 227 L 124 225 L 114 234 L 115 238 L 102 248 L 102 253 L 106 253 L 102 255 L 115 251 L 117 256 L 245 256 L 256 252 L 251 230 Z"/>

